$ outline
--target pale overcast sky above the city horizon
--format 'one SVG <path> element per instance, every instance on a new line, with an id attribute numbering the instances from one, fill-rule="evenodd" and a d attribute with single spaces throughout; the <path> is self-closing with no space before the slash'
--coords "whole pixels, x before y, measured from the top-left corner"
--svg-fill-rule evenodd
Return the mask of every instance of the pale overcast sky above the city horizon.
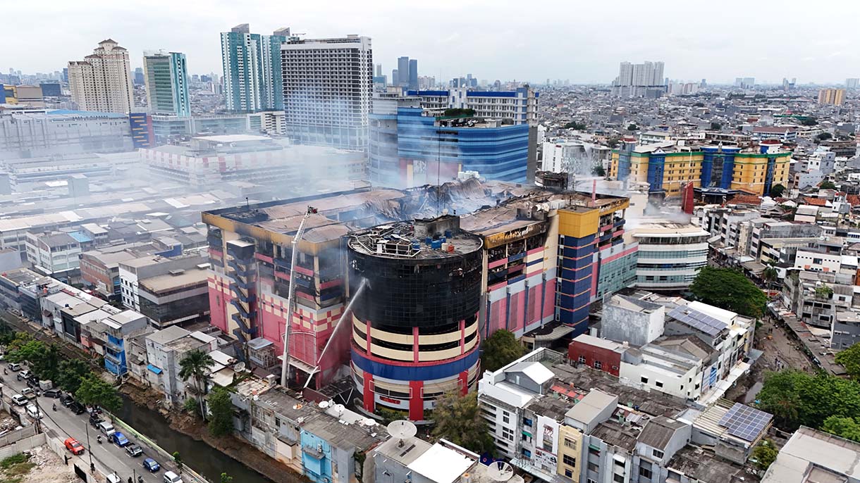
<path id="1" fill-rule="evenodd" d="M 61 70 L 110 37 L 132 68 L 144 49 L 165 49 L 185 52 L 192 73 L 220 74 L 218 33 L 250 23 L 256 34 L 367 35 L 388 76 L 405 55 L 437 79 L 609 83 L 623 60 L 663 60 L 671 79 L 843 83 L 860 77 L 858 18 L 857 0 L 18 1 L 3 2 L 0 69 Z"/>

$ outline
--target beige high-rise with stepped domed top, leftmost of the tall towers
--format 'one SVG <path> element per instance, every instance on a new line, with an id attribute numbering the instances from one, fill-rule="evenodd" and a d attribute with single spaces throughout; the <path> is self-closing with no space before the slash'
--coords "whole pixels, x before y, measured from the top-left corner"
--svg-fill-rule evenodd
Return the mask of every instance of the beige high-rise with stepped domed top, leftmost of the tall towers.
<path id="1" fill-rule="evenodd" d="M 131 112 L 134 103 L 128 51 L 115 40 L 101 40 L 91 55 L 69 62 L 69 90 L 71 100 L 84 111 Z"/>

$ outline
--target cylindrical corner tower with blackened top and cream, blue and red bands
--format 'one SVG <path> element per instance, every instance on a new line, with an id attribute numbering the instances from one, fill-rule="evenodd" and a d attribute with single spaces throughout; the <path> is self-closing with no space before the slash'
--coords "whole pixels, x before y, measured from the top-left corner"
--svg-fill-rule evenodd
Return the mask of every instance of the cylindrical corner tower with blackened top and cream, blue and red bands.
<path id="1" fill-rule="evenodd" d="M 353 379 L 364 406 L 424 419 L 479 372 L 482 240 L 444 216 L 349 235 Z"/>

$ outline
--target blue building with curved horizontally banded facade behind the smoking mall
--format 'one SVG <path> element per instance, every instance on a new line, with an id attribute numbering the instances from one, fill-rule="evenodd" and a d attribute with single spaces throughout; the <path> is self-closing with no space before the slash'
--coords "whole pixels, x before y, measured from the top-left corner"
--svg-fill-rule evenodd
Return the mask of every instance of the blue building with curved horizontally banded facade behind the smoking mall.
<path id="1" fill-rule="evenodd" d="M 376 162 L 372 159 L 372 180 L 386 179 L 390 186 L 421 186 L 452 180 L 460 171 L 477 171 L 488 180 L 525 182 L 528 125 L 437 118 L 425 113 L 421 107 L 397 109 L 396 136 L 387 137 L 388 144 L 396 144 L 396 158 L 393 150 L 387 150 L 390 156 Z"/>

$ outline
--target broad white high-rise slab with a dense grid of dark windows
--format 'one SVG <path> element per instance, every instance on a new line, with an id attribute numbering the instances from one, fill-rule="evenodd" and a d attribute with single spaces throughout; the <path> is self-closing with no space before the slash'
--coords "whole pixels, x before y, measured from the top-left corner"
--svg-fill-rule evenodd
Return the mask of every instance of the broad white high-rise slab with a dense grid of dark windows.
<path id="1" fill-rule="evenodd" d="M 280 52 L 290 139 L 365 150 L 373 91 L 370 37 L 292 39 Z"/>

